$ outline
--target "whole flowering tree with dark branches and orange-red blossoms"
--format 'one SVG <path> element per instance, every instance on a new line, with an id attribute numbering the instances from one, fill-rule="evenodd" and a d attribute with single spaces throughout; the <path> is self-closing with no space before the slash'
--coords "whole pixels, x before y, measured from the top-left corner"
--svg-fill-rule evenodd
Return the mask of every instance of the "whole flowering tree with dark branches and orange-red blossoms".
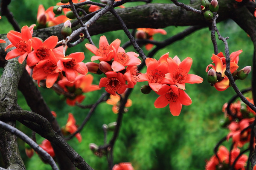
<path id="1" fill-rule="evenodd" d="M 145 5 L 125 7 L 137 1 Z M 212 63 L 205 64 L 207 81 L 216 91 L 233 88 L 236 96 L 223 106 L 226 119 L 222 126 L 230 132 L 216 144 L 214 155 L 206 158 L 209 161 L 205 169 L 256 169 L 256 108 L 253 105 L 256 100 L 256 52 L 253 54 L 253 65 L 240 69 L 238 62 L 242 50 L 237 49 L 230 54 L 228 37 L 223 37 L 216 26 L 216 22 L 234 20 L 250 36 L 255 48 L 255 2 L 191 0 L 186 5 L 177 0 L 166 4 L 152 3 L 152 0 L 61 0 L 46 10 L 40 5 L 36 24 L 21 29 L 9 11 L 10 3 L 10 0 L 1 3 L 1 15 L 7 17 L 14 27 L 9 33 L 2 34 L 0 40 L 0 64 L 4 68 L 0 78 L 0 153 L 5 168 L 26 169 L 17 152 L 18 136 L 26 142 L 27 156 L 31 157 L 35 151 L 54 170 L 93 170 L 67 141 L 75 136 L 81 142 L 80 132 L 84 125 L 99 104 L 107 102 L 113 105 L 112 111 L 117 114 L 116 122 L 102 125 L 104 144 L 98 146 L 91 143 L 90 150 L 96 156 L 106 156 L 109 170 L 136 169 L 129 162 L 114 164 L 113 161 L 113 148 L 119 136 L 123 114 L 129 113 L 128 108 L 132 105 L 128 98 L 133 88 L 137 82 L 145 82 L 141 92 L 149 94 L 154 91 L 157 96 L 151 105 L 155 108 L 168 105 L 170 115 L 182 114 L 183 105 L 191 105 L 193 100 L 186 93 L 189 91 L 186 87 L 188 84 L 199 84 L 203 79 L 196 74 L 189 74 L 193 61 L 191 57 L 181 61 L 177 56 L 169 56 L 168 52 L 161 54 L 161 57 L 155 54 L 167 45 L 208 26 L 213 54 L 204 54 L 212 56 L 212 61 L 209 59 Z M 166 35 L 167 32 L 161 28 L 167 26 L 190 27 L 163 41 L 153 40 L 154 34 Z M 110 43 L 102 35 L 97 40 L 99 45 L 94 44 L 93 35 L 119 29 L 126 34 L 128 42 L 123 44 L 116 37 Z M 223 42 L 220 45 L 224 52 L 218 49 L 220 45 L 217 45 L 216 33 Z M 84 44 L 91 52 L 91 62 L 84 62 L 83 51 L 66 53 L 67 48 L 79 44 Z M 132 46 L 133 51 L 128 51 L 128 46 Z M 142 50 L 144 46 L 145 51 L 151 50 L 147 55 Z M 236 80 L 245 79 L 251 69 L 251 88 L 240 91 Z M 93 85 L 93 78 L 99 75 L 99 84 Z M 67 124 L 60 127 L 56 113 L 49 109 L 38 87 L 52 89 L 70 107 L 90 108 L 82 124 L 77 127 L 75 117 L 68 113 Z M 81 105 L 85 93 L 100 88 L 105 89 L 105 92 L 95 103 Z M 31 111 L 24 111 L 17 104 L 18 89 Z M 243 95 L 247 91 L 252 92 L 252 99 Z M 241 101 L 235 102 L 237 97 Z M 31 138 L 15 127 L 16 121 L 33 130 Z M 111 130 L 113 136 L 107 140 L 107 132 Z M 45 138 L 41 144 L 36 142 L 35 133 Z M 232 140 L 230 150 L 221 145 L 226 140 Z M 2 169 L 5 170 L 0 167 Z"/>

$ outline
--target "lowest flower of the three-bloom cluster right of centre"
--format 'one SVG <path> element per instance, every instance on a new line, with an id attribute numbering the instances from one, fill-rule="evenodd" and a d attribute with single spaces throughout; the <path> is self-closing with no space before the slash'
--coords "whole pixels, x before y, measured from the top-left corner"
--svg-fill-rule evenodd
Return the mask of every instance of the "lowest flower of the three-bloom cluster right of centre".
<path id="1" fill-rule="evenodd" d="M 192 101 L 185 91 L 176 85 L 163 85 L 157 94 L 160 96 L 154 102 L 156 108 L 164 108 L 169 104 L 173 116 L 179 116 L 182 105 L 191 105 Z"/>

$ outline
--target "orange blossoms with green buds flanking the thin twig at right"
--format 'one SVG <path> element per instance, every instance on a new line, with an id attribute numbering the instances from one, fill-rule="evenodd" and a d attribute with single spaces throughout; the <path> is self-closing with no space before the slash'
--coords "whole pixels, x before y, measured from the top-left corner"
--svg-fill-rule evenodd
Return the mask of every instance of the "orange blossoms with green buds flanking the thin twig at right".
<path id="1" fill-rule="evenodd" d="M 246 66 L 241 70 L 238 69 L 238 61 L 239 54 L 241 54 L 242 50 L 233 52 L 230 54 L 230 72 L 233 75 L 234 79 L 245 79 L 247 75 L 250 73 L 251 67 Z M 226 57 L 222 52 L 215 55 L 212 54 L 212 63 L 209 64 L 206 68 L 206 72 L 208 73 L 208 82 L 211 83 L 218 91 L 224 91 L 230 86 L 230 81 L 225 75 L 226 71 Z M 211 67 L 211 69 L 209 69 Z"/>

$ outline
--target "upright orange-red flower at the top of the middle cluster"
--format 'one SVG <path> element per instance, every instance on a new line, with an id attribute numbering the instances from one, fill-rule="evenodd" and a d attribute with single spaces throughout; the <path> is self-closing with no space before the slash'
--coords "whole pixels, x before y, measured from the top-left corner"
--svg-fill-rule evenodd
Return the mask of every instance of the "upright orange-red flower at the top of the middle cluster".
<path id="1" fill-rule="evenodd" d="M 95 54 L 95 56 L 91 58 L 91 61 L 99 59 L 99 61 L 108 62 L 116 55 L 116 51 L 118 51 L 120 43 L 121 41 L 116 39 L 109 45 L 107 38 L 103 35 L 99 39 L 99 48 L 91 44 L 85 44 L 85 46 Z"/>

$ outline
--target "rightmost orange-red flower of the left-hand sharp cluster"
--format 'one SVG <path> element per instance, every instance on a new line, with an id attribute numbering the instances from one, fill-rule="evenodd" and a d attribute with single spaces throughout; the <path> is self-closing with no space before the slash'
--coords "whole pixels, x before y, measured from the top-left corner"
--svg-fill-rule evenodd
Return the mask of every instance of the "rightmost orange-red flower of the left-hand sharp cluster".
<path id="1" fill-rule="evenodd" d="M 72 53 L 69 56 L 66 56 L 65 58 L 60 59 L 57 62 L 58 68 L 61 71 L 65 72 L 65 75 L 67 77 L 67 80 L 70 82 L 74 82 L 76 79 L 76 71 L 80 74 L 87 74 L 88 69 L 84 62 L 84 53 L 82 52 L 76 52 Z"/>

